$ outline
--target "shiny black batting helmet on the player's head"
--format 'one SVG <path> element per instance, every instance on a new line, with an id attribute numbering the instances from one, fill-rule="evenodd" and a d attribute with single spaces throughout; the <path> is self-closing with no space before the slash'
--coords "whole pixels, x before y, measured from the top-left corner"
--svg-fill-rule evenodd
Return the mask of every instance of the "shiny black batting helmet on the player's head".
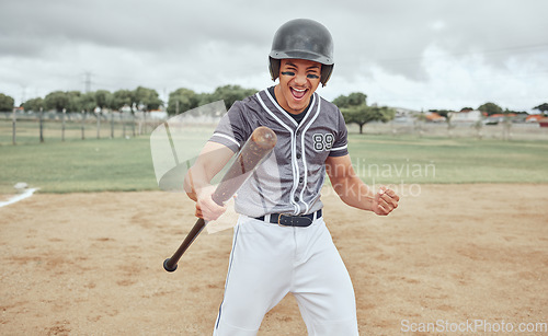
<path id="1" fill-rule="evenodd" d="M 333 38 L 321 23 L 296 19 L 283 24 L 274 35 L 269 55 L 272 80 L 279 74 L 279 60 L 297 58 L 317 61 L 321 67 L 321 84 L 326 86 L 333 72 Z"/>

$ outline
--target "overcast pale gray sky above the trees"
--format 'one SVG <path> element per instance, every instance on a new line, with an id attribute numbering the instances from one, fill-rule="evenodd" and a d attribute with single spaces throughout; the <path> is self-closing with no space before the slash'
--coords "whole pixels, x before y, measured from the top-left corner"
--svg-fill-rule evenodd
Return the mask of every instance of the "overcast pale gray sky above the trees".
<path id="1" fill-rule="evenodd" d="M 335 43 L 328 100 L 530 112 L 548 102 L 547 13 L 546 0 L 0 0 L 0 93 L 263 89 L 275 31 L 309 18 Z"/>

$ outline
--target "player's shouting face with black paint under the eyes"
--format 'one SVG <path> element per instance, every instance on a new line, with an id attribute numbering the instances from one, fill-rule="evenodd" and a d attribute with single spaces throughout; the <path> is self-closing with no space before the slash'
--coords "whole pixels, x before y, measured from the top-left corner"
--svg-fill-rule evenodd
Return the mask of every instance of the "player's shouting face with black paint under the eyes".
<path id="1" fill-rule="evenodd" d="M 305 59 L 282 59 L 279 83 L 274 89 L 279 105 L 298 114 L 310 103 L 321 78 L 321 63 Z"/>

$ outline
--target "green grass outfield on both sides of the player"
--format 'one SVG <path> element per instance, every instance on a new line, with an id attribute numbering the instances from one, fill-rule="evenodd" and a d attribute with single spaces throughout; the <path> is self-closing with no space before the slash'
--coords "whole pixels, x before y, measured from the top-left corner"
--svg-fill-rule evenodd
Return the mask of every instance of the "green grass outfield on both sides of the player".
<path id="1" fill-rule="evenodd" d="M 370 184 L 548 183 L 548 142 L 351 135 Z M 149 137 L 0 146 L 0 193 L 158 189 Z"/>

